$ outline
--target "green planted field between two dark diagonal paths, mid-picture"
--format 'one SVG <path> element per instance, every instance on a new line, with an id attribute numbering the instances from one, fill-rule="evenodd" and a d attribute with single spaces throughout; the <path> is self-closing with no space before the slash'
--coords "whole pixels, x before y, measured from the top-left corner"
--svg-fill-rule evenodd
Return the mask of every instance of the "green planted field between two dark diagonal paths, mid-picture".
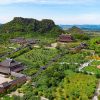
<path id="1" fill-rule="evenodd" d="M 19 56 L 16 60 L 27 66 L 23 72 L 27 75 L 33 75 L 37 70 L 46 65 L 53 57 L 58 54 L 56 49 L 34 48 L 33 50 Z"/>

